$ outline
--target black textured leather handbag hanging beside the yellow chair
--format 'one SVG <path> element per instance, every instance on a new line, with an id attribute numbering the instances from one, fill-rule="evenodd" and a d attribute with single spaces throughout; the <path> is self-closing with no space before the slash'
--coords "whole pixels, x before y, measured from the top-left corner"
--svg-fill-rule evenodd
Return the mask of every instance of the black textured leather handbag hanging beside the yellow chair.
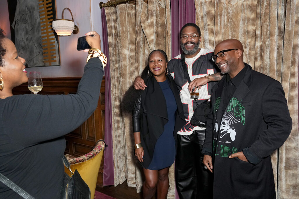
<path id="1" fill-rule="evenodd" d="M 77 169 L 72 172 L 71 165 L 66 159 L 65 156 L 62 157 L 62 160 L 71 172 L 71 177 L 68 174 L 64 173 L 65 178 L 61 190 L 61 199 L 90 199 L 90 189 L 88 185 L 84 182 L 80 176 Z"/>

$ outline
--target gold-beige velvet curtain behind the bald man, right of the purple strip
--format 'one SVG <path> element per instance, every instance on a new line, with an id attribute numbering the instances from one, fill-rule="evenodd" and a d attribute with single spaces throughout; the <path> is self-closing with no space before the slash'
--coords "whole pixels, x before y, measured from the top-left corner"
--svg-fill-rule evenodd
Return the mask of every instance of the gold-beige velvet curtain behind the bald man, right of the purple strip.
<path id="1" fill-rule="evenodd" d="M 281 82 L 293 120 L 286 143 L 271 155 L 277 198 L 299 196 L 298 40 L 299 1 L 195 0 L 202 47 L 235 38 L 244 61 Z"/>

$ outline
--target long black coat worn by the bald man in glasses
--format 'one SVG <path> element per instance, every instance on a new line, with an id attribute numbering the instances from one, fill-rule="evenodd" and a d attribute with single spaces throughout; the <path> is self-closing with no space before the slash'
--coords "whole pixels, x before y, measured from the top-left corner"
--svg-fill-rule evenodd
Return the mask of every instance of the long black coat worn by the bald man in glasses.
<path id="1" fill-rule="evenodd" d="M 232 96 L 234 103 L 226 106 L 221 100 L 225 97 L 225 76 L 212 89 L 212 111 L 202 153 L 213 154 L 214 198 L 275 198 L 270 154 L 286 141 L 292 129 L 280 82 L 245 65 L 246 73 Z M 229 135 L 224 138 L 224 112 L 240 120 L 230 129 L 234 139 Z M 228 151 L 221 149 L 225 139 L 234 147 L 228 155 L 243 151 L 249 162 L 222 156 Z"/>

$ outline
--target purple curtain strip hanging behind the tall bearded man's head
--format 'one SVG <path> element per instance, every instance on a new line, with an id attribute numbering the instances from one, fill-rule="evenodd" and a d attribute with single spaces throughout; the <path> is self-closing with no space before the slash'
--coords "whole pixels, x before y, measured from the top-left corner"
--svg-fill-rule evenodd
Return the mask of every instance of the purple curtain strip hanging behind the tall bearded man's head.
<path id="1" fill-rule="evenodd" d="M 181 54 L 180 30 L 187 23 L 195 23 L 194 0 L 170 0 L 171 5 L 171 56 Z"/>

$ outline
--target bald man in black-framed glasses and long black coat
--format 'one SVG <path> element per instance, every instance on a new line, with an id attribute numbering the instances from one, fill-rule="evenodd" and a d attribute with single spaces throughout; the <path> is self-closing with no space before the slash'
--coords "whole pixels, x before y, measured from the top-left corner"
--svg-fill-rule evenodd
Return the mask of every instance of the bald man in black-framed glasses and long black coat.
<path id="1" fill-rule="evenodd" d="M 214 174 L 214 198 L 276 198 L 270 154 L 292 119 L 280 82 L 244 63 L 243 52 L 227 39 L 211 57 L 225 76 L 212 89 L 203 163 Z"/>

